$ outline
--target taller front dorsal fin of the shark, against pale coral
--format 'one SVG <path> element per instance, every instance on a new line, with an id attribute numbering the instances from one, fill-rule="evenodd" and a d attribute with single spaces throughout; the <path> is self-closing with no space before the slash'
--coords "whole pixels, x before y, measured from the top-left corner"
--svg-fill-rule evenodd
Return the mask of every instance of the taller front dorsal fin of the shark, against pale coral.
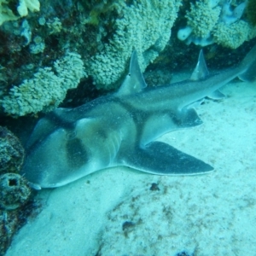
<path id="1" fill-rule="evenodd" d="M 129 73 L 119 88 L 118 95 L 128 95 L 137 93 L 147 87 L 143 74 L 137 61 L 137 51 L 134 50 L 131 55 Z"/>

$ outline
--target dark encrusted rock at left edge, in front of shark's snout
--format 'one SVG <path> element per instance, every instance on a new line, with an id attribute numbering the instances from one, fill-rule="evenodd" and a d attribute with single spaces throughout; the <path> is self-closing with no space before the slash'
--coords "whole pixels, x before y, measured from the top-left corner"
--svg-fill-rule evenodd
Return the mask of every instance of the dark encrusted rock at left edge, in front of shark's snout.
<path id="1" fill-rule="evenodd" d="M 0 255 L 32 212 L 38 211 L 32 189 L 19 174 L 24 154 L 20 140 L 0 126 Z"/>

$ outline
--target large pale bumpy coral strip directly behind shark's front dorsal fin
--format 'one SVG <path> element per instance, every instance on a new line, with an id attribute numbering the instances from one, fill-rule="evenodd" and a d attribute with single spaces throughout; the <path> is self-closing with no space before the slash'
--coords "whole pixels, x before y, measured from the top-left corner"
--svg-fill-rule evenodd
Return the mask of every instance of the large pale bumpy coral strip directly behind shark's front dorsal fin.
<path id="1" fill-rule="evenodd" d="M 118 15 L 113 24 L 113 37 L 85 64 L 97 88 L 109 90 L 117 86 L 132 49 L 137 49 L 142 71 L 154 61 L 171 36 L 180 3 L 180 0 L 113 3 Z"/>

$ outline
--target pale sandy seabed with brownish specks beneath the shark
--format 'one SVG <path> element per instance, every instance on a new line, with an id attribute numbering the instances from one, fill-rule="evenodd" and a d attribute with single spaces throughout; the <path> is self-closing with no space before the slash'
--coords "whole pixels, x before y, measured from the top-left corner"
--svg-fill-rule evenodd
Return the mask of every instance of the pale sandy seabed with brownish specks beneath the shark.
<path id="1" fill-rule="evenodd" d="M 214 172 L 158 177 L 119 167 L 44 189 L 43 212 L 6 255 L 255 255 L 256 83 L 222 91 L 228 98 L 198 108 L 203 125 L 160 139 Z M 125 221 L 134 225 L 123 230 Z"/>

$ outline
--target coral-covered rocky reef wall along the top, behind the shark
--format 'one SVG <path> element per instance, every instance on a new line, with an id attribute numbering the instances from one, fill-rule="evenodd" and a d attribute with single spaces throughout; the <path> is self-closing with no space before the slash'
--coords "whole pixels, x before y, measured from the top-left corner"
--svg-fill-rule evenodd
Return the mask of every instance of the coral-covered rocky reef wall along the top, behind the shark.
<path id="1" fill-rule="evenodd" d="M 144 71 L 176 37 L 236 49 L 256 37 L 245 9 L 226 0 L 1 1 L 0 113 L 51 111 L 79 84 L 116 90 L 133 49 Z"/>

